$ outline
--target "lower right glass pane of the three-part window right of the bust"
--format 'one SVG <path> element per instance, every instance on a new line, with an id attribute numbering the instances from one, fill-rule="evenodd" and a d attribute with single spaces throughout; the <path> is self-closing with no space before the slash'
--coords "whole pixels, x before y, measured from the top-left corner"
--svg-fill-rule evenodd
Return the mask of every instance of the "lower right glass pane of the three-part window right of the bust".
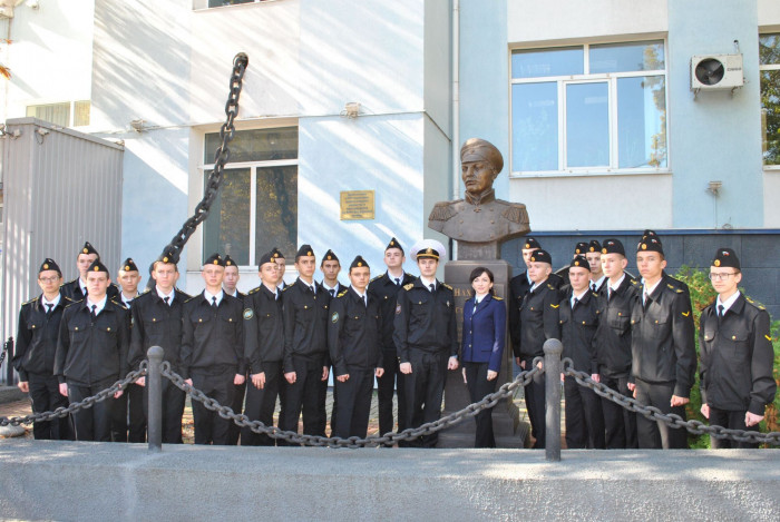
<path id="1" fill-rule="evenodd" d="M 664 77 L 617 79 L 620 168 L 666 167 Z"/>

